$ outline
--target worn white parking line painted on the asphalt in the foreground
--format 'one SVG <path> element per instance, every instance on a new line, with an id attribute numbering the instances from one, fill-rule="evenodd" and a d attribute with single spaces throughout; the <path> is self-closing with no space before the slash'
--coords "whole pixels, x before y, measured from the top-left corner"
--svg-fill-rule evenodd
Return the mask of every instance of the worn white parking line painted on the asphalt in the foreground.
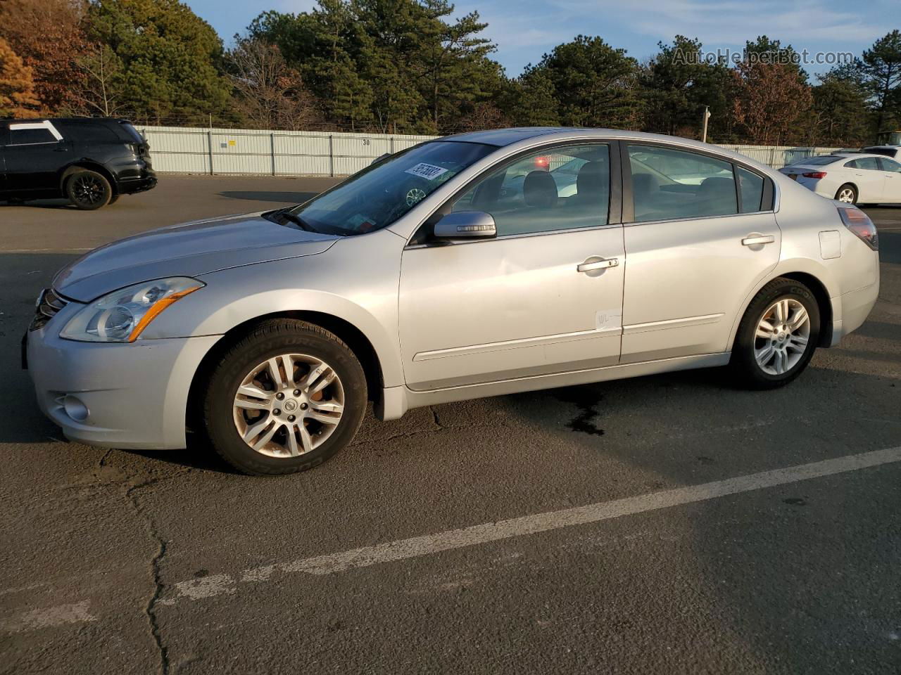
<path id="1" fill-rule="evenodd" d="M 798 464 L 784 469 L 728 478 L 724 481 L 706 482 L 686 488 L 627 497 L 622 500 L 602 501 L 596 504 L 537 513 L 522 518 L 510 518 L 494 523 L 483 523 L 471 527 L 445 530 L 432 535 L 414 536 L 394 542 L 363 546 L 340 553 L 317 555 L 296 561 L 272 563 L 251 567 L 238 574 L 214 574 L 202 578 L 178 581 L 172 591 L 165 592 L 167 598 L 160 599 L 159 605 L 176 605 L 180 601 L 201 601 L 220 595 L 235 593 L 241 583 L 267 583 L 274 581 L 277 573 L 304 572 L 322 575 L 347 572 L 359 567 L 369 567 L 382 563 L 394 563 L 410 558 L 422 557 L 451 551 L 453 549 L 477 546 L 509 539 L 516 536 L 535 535 L 562 527 L 573 527 L 597 523 L 612 518 L 622 518 L 658 509 L 692 504 L 718 497 L 740 494 L 809 481 L 814 478 L 849 473 L 881 464 L 901 462 L 901 446 L 886 450 L 874 450 L 860 455 L 846 455 L 811 464 Z M 64 605 L 25 612 L 12 619 L 0 620 L 0 632 L 18 633 L 46 626 L 96 621 L 87 611 L 88 601 L 76 605 Z"/>

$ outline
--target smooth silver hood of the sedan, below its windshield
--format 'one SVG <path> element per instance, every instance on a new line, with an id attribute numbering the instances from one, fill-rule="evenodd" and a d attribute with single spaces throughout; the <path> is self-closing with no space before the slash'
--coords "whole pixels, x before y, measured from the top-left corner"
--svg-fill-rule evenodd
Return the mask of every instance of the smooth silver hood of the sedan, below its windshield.
<path id="1" fill-rule="evenodd" d="M 90 302 L 124 286 L 323 253 L 338 239 L 289 228 L 260 213 L 153 229 L 95 248 L 53 280 L 61 295 Z"/>

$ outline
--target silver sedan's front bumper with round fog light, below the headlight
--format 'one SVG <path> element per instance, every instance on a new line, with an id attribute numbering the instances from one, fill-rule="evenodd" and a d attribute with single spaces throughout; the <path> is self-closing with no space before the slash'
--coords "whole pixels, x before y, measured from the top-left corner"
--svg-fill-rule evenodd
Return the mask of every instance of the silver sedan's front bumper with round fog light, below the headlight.
<path id="1" fill-rule="evenodd" d="M 73 303 L 77 305 L 77 303 Z M 59 329 L 82 305 L 69 305 L 26 337 L 29 372 L 41 411 L 70 440 L 90 446 L 186 446 L 187 395 L 197 366 L 221 336 L 75 342 Z M 68 410 L 64 402 L 69 402 Z M 84 411 L 75 419 L 70 411 Z"/>

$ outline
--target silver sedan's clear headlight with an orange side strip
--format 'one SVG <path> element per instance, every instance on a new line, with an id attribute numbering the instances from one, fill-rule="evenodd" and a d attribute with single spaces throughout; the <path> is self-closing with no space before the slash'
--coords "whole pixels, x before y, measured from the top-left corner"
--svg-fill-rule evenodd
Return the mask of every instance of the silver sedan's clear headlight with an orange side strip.
<path id="1" fill-rule="evenodd" d="M 108 293 L 78 311 L 59 337 L 82 342 L 134 342 L 159 312 L 204 285 L 196 279 L 175 276 Z"/>

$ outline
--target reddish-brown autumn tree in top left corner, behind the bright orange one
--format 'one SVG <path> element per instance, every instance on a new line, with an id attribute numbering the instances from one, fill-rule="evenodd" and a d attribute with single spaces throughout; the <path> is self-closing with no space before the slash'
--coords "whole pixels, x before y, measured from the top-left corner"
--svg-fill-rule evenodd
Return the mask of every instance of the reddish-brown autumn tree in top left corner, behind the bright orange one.
<path id="1" fill-rule="evenodd" d="M 34 73 L 34 91 L 46 113 L 73 112 L 84 83 L 78 59 L 87 49 L 82 20 L 86 0 L 5 0 L 4 37 Z"/>

